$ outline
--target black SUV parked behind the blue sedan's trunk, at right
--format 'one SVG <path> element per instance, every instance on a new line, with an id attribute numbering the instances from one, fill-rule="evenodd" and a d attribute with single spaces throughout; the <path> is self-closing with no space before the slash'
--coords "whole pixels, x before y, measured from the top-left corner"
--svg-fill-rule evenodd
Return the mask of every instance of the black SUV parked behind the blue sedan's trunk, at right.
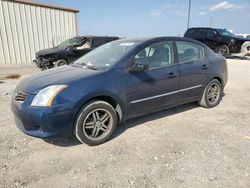
<path id="1" fill-rule="evenodd" d="M 190 28 L 184 37 L 198 40 L 209 46 L 216 53 L 227 56 L 231 53 L 240 53 L 247 38 L 237 37 L 226 29 L 215 28 Z"/>

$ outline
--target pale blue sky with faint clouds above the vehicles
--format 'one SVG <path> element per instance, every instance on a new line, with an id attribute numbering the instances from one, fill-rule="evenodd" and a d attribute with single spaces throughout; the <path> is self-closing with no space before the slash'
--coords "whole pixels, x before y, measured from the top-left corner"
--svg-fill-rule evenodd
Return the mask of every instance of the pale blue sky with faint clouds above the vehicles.
<path id="1" fill-rule="evenodd" d="M 182 36 L 189 0 L 34 0 L 80 10 L 80 35 Z M 250 33 L 250 0 L 192 0 L 191 27 Z"/>

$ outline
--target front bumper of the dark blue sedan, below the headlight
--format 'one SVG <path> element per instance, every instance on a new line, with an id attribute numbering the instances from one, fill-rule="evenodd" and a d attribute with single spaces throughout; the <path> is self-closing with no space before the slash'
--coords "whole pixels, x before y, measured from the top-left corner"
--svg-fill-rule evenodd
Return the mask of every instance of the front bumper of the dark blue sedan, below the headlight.
<path id="1" fill-rule="evenodd" d="M 29 104 L 33 98 L 33 95 L 29 95 L 24 102 L 12 98 L 11 109 L 16 125 L 22 132 L 39 138 L 72 134 L 72 105 L 31 107 Z"/>

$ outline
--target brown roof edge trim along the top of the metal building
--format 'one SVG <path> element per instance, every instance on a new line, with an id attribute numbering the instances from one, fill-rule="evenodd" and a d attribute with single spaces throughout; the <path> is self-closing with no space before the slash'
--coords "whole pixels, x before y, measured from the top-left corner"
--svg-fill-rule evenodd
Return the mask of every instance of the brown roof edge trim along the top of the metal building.
<path id="1" fill-rule="evenodd" d="M 77 9 L 60 7 L 60 6 L 54 6 L 54 5 L 49 5 L 47 3 L 34 2 L 32 0 L 11 0 L 11 1 L 14 1 L 14 2 L 17 2 L 17 3 L 23 3 L 23 4 L 29 4 L 29 5 L 39 6 L 39 7 L 45 7 L 45 8 L 51 8 L 51 9 L 57 9 L 57 10 L 70 11 L 70 12 L 75 12 L 75 13 L 79 12 L 79 10 L 77 10 Z"/>

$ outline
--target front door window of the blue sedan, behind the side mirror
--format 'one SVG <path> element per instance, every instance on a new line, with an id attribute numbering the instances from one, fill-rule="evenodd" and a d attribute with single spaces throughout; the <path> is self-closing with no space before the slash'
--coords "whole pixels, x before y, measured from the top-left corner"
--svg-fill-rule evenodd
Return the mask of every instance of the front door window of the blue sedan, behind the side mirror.
<path id="1" fill-rule="evenodd" d="M 133 58 L 133 63 L 146 63 L 149 69 L 165 67 L 174 64 L 172 42 L 159 42 L 152 44 Z"/>

